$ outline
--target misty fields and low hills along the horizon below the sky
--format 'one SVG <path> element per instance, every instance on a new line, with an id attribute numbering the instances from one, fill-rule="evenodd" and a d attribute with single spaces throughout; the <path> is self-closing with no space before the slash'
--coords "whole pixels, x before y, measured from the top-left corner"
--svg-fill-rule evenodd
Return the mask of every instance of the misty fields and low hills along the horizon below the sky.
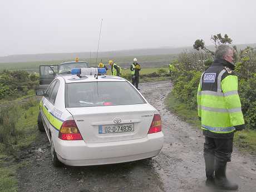
<path id="1" fill-rule="evenodd" d="M 256 43 L 236 45 L 238 50 L 247 46 L 256 47 Z M 208 46 L 209 50 L 214 50 L 214 46 Z M 99 52 L 97 63 L 101 60 L 107 63 L 110 59 L 119 63 L 122 67 L 129 67 L 133 58 L 136 57 L 142 67 L 166 67 L 169 62 L 178 57 L 184 51 L 190 51 L 193 47 L 178 48 L 144 48 L 139 50 L 121 50 Z M 86 61 L 91 67 L 95 66 L 96 52 L 74 52 L 74 53 L 45 53 L 33 55 L 12 55 L 0 57 L 0 71 L 2 70 L 26 70 L 38 72 L 40 65 L 57 65 L 64 61 L 74 61 L 78 57 Z"/>

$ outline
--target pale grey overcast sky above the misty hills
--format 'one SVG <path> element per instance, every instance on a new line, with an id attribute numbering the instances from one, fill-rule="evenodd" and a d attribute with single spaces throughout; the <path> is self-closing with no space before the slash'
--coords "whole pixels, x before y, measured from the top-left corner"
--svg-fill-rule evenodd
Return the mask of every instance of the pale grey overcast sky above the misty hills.
<path id="1" fill-rule="evenodd" d="M 0 56 L 256 42 L 255 0 L 0 0 Z"/>

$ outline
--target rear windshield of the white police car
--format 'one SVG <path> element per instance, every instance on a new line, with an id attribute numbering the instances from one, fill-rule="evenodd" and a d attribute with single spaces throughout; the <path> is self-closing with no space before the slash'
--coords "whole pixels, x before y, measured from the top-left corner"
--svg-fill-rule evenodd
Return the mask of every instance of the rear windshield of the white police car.
<path id="1" fill-rule="evenodd" d="M 94 107 L 145 104 L 128 82 L 66 83 L 66 107 Z"/>

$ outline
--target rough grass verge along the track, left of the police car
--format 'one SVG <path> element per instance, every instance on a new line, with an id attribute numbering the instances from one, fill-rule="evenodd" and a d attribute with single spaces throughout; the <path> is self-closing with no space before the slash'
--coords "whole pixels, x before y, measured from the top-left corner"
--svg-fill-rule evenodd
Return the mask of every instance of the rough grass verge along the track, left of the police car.
<path id="1" fill-rule="evenodd" d="M 14 163 L 13 157 L 17 156 L 21 150 L 29 147 L 32 142 L 35 142 L 36 136 L 38 135 L 38 104 L 27 101 L 26 104 L 17 107 L 16 110 L 18 114 L 21 114 L 16 124 L 17 142 L 8 145 L 0 144 L 0 191 L 4 192 L 18 190 L 17 169 L 24 166 L 26 162 Z"/>

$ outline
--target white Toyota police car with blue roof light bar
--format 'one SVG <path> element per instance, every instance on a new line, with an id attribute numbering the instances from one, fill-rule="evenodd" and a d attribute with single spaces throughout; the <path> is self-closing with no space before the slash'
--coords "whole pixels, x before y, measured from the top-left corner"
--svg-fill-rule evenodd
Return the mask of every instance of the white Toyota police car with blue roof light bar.
<path id="1" fill-rule="evenodd" d="M 101 71 L 72 69 L 46 92 L 37 90 L 38 128 L 47 133 L 55 166 L 147 159 L 163 147 L 159 112 L 129 81 Z"/>

